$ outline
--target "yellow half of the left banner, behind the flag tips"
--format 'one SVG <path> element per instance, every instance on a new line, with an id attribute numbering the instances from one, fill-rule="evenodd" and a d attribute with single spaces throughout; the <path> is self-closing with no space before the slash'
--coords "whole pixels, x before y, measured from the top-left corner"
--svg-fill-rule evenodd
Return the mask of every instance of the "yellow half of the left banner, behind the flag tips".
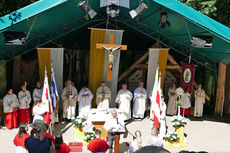
<path id="1" fill-rule="evenodd" d="M 49 48 L 37 48 L 38 53 L 38 67 L 39 67 L 39 75 L 40 81 L 44 81 L 45 75 L 45 66 L 48 73 L 48 78 L 50 82 L 51 76 L 51 49 Z"/>

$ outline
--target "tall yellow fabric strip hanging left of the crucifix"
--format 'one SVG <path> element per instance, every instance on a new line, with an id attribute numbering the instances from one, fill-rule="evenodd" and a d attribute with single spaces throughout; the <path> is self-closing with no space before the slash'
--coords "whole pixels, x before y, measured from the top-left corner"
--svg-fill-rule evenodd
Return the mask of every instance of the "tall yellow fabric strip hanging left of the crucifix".
<path id="1" fill-rule="evenodd" d="M 105 51 L 96 49 L 97 43 L 105 43 L 105 29 L 91 29 L 90 38 L 90 66 L 89 66 L 89 89 L 92 91 L 94 98 L 92 106 L 96 107 L 96 91 L 100 83 L 104 80 Z"/>

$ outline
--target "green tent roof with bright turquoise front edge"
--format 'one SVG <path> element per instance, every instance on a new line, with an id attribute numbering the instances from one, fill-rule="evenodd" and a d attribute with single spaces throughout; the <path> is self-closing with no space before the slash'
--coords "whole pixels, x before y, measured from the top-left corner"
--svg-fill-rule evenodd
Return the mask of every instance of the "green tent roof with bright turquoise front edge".
<path id="1" fill-rule="evenodd" d="M 105 8 L 99 7 L 99 0 L 89 0 L 89 5 L 98 13 L 89 21 L 84 19 L 78 3 L 76 0 L 40 0 L 1 17 L 0 59 L 10 60 L 45 44 L 58 44 L 57 40 L 73 31 L 106 21 Z M 148 9 L 139 22 L 129 15 L 129 11 L 139 5 L 139 0 L 130 0 L 130 9 L 121 7 L 119 17 L 111 19 L 111 23 L 116 23 L 124 30 L 128 28 L 153 40 L 159 40 L 165 47 L 185 56 L 190 54 L 191 35 L 213 36 L 212 48 L 194 48 L 192 59 L 201 64 L 230 64 L 230 28 L 177 0 L 150 0 L 146 4 Z M 161 12 L 168 13 L 170 26 L 165 29 L 159 26 Z M 9 17 L 15 20 L 12 22 Z M 27 34 L 26 44 L 5 45 L 4 31 L 24 31 Z"/>

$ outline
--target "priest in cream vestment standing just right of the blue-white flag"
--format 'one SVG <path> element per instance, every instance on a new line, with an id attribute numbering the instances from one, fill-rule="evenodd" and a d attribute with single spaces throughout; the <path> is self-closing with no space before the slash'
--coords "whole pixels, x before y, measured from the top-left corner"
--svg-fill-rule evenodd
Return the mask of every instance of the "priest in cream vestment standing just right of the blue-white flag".
<path id="1" fill-rule="evenodd" d="M 63 118 L 70 120 L 75 119 L 78 92 L 72 85 L 71 80 L 68 80 L 66 84 L 61 95 L 63 101 Z"/>

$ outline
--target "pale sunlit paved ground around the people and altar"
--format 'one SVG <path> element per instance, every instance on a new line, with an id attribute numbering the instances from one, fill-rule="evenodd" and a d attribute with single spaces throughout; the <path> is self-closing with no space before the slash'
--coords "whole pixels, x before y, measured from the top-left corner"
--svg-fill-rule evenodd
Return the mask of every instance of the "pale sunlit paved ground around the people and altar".
<path id="1" fill-rule="evenodd" d="M 170 117 L 167 117 L 167 125 L 169 131 L 172 131 Z M 150 138 L 150 122 L 148 119 L 143 121 L 132 121 L 127 124 L 127 128 L 131 133 L 135 130 L 142 132 L 142 139 L 147 142 Z M 63 137 L 66 143 L 74 141 L 75 129 L 71 124 L 61 124 L 56 126 L 55 133 L 62 130 Z M 14 153 L 15 147 L 13 145 L 13 138 L 18 129 L 8 130 L 5 127 L 0 128 L 0 153 Z M 54 134 L 55 134 L 54 133 Z M 190 119 L 185 128 L 187 134 L 188 145 L 180 149 L 168 149 L 170 152 L 179 152 L 181 150 L 188 151 L 207 151 L 209 153 L 230 153 L 230 124 L 211 121 L 211 120 L 194 120 Z M 125 145 L 126 141 L 132 141 L 132 136 L 128 134 L 127 138 L 121 135 L 120 152 L 127 152 Z M 83 148 L 84 153 L 88 153 L 86 147 Z M 167 148 L 166 148 L 167 149 Z"/>

